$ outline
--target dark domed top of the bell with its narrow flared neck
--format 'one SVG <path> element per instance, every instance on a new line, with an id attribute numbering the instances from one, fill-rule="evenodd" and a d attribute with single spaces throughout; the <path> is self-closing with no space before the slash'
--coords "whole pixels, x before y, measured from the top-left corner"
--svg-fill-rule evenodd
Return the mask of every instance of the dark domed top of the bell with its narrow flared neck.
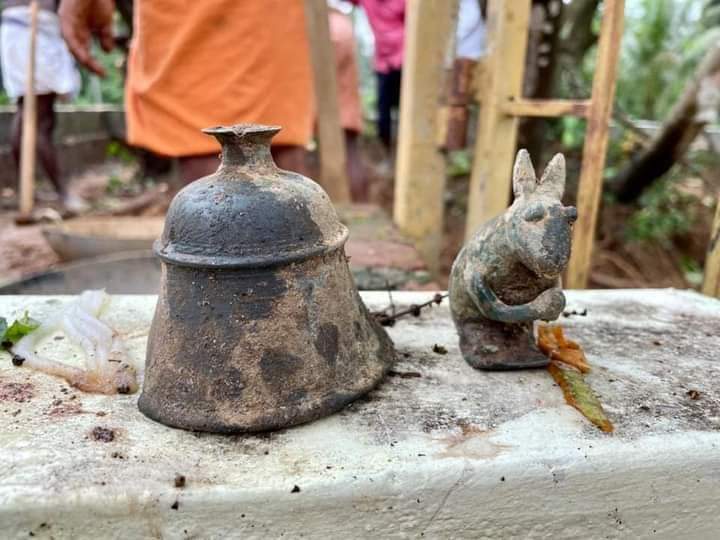
<path id="1" fill-rule="evenodd" d="M 270 141 L 279 130 L 248 124 L 203 130 L 222 145 L 222 165 L 173 199 L 155 243 L 161 259 L 181 266 L 274 266 L 345 242 L 347 228 L 325 191 L 273 162 Z"/>

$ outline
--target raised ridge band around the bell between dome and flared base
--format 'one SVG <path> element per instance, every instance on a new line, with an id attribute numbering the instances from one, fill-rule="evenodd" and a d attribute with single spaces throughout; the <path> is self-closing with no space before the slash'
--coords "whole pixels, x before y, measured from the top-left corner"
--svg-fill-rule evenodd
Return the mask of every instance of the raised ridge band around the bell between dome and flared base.
<path id="1" fill-rule="evenodd" d="M 341 225 L 339 234 L 331 241 L 324 241 L 319 244 L 301 247 L 300 249 L 280 253 L 264 253 L 260 255 L 196 255 L 173 249 L 172 242 L 163 244 L 162 238 L 153 242 L 153 253 L 161 261 L 175 266 L 187 266 L 191 268 L 266 268 L 283 266 L 333 253 L 342 249 L 347 242 L 349 231 L 345 225 Z M 170 249 L 168 249 L 170 248 Z"/>

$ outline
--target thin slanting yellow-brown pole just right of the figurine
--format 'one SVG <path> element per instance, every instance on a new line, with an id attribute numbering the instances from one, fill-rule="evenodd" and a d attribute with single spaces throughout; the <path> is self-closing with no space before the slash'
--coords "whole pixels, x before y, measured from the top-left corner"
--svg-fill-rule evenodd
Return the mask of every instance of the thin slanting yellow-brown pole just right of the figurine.
<path id="1" fill-rule="evenodd" d="M 624 0 L 605 0 L 595 77 L 585 130 L 583 161 L 578 185 L 578 220 L 573 231 L 572 257 L 566 286 L 587 287 L 602 193 L 602 176 L 607 151 L 608 128 L 615 97 L 615 78 L 623 30 Z"/>

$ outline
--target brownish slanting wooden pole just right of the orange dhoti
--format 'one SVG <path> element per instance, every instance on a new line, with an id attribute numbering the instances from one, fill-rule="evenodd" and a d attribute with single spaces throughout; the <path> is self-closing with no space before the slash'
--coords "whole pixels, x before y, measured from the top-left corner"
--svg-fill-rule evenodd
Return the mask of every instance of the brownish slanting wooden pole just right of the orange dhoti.
<path id="1" fill-rule="evenodd" d="M 305 0 L 305 23 L 317 109 L 320 178 L 334 203 L 347 203 L 350 201 L 350 184 L 346 168 L 345 136 L 340 125 L 335 50 L 330 40 L 326 0 Z"/>

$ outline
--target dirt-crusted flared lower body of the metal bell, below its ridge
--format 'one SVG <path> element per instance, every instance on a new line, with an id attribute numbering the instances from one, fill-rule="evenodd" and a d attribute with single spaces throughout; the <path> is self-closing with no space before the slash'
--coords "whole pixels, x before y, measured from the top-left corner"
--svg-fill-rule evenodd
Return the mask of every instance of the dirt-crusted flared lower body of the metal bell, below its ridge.
<path id="1" fill-rule="evenodd" d="M 163 263 L 138 406 L 193 431 L 281 429 L 369 392 L 394 359 L 342 249 L 253 270 Z"/>

